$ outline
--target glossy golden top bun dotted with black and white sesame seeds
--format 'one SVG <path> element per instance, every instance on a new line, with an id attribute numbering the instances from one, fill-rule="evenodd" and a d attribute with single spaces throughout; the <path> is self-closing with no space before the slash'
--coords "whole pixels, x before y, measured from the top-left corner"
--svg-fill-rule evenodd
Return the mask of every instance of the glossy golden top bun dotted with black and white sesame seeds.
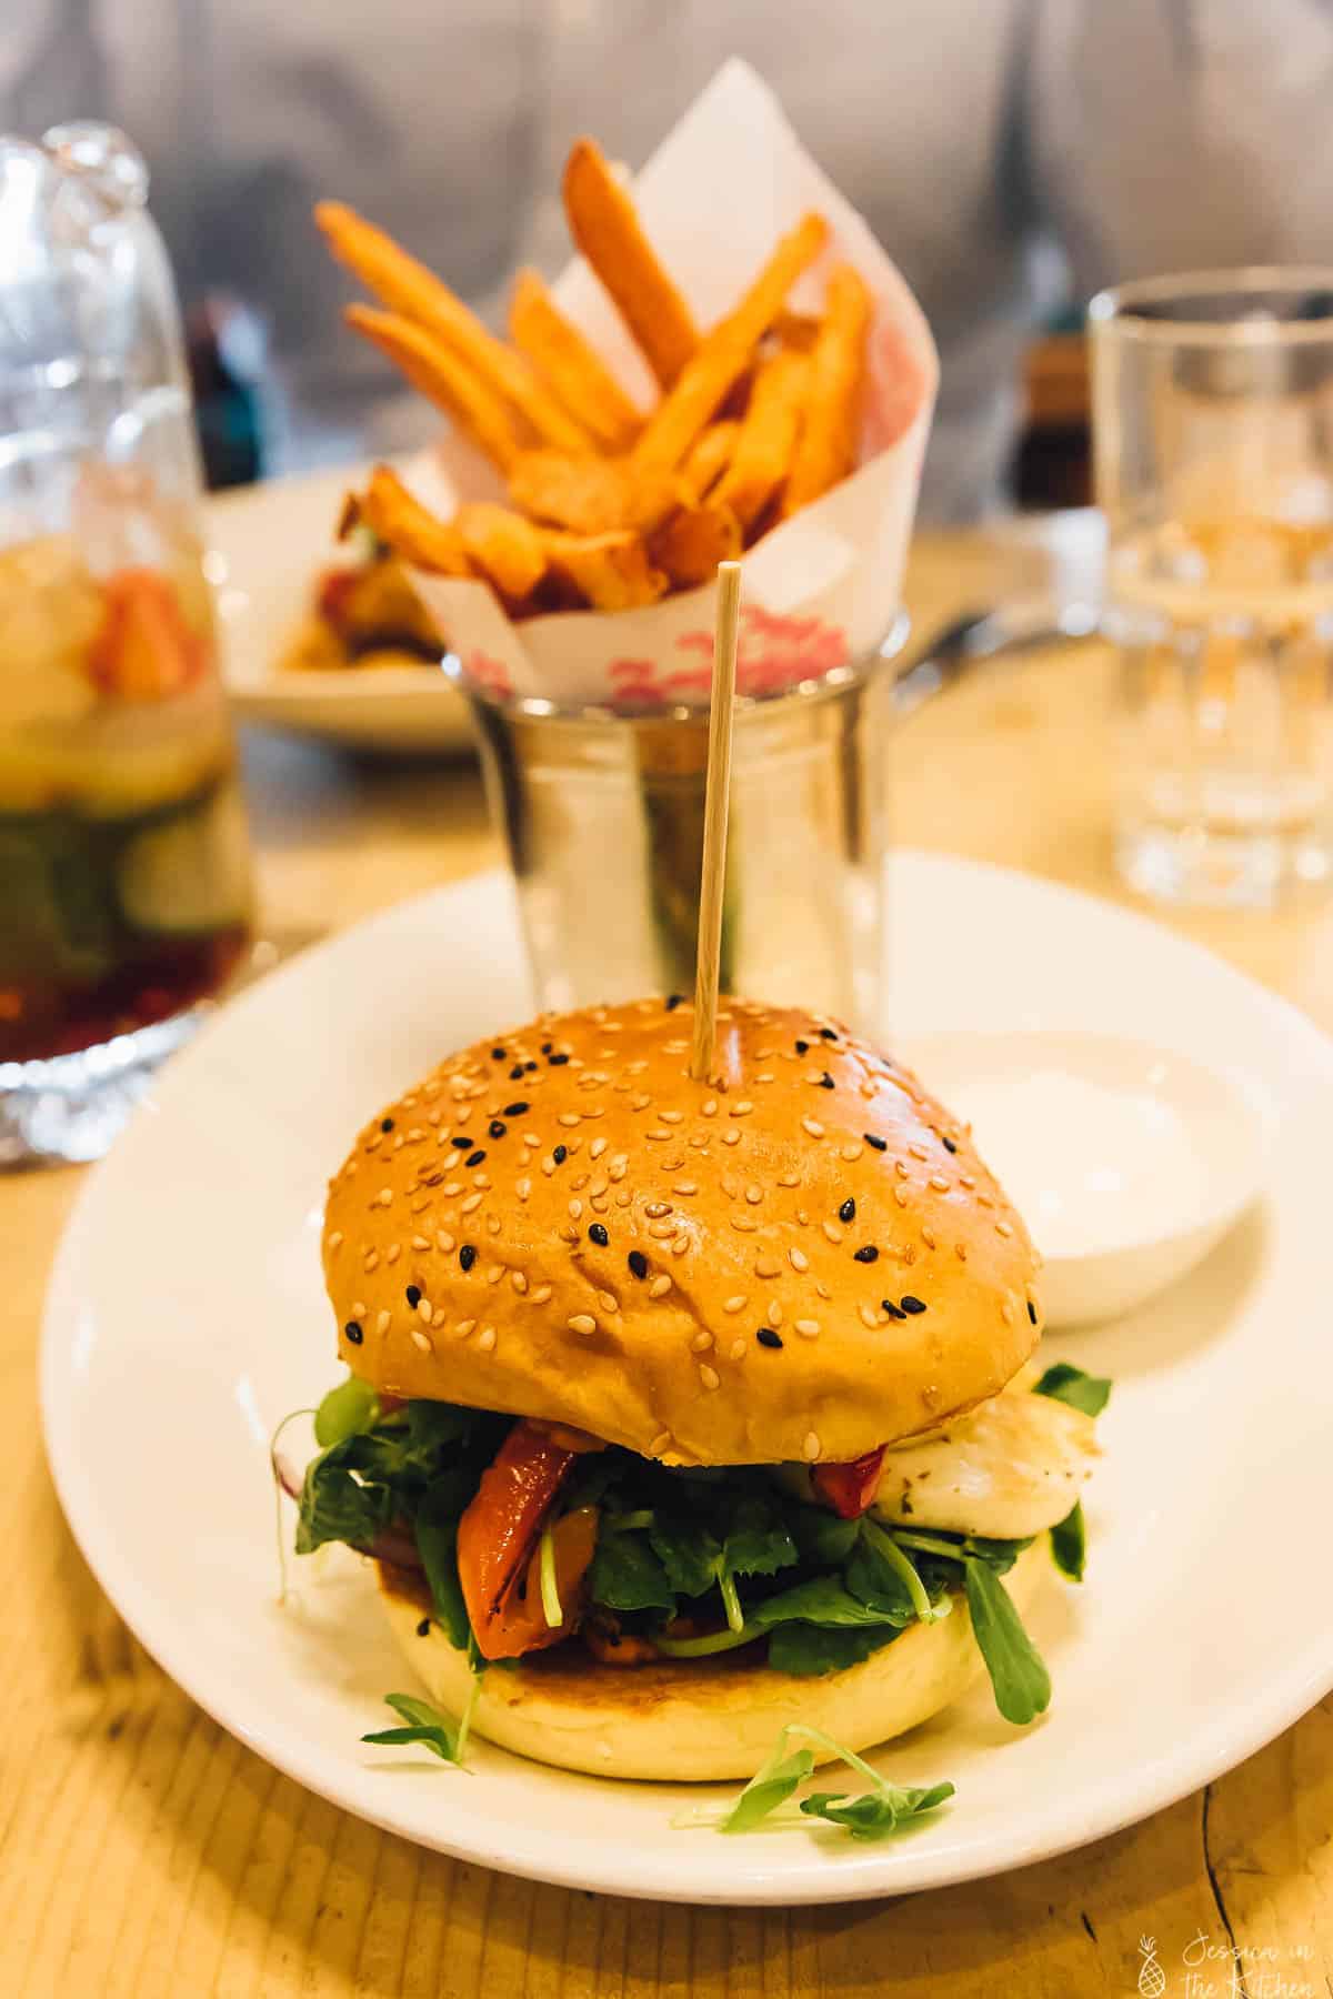
<path id="1" fill-rule="evenodd" d="M 841 1025 L 544 1015 L 440 1063 L 334 1175 L 342 1357 L 386 1393 L 664 1463 L 843 1461 L 995 1395 L 1037 1257 L 963 1127 Z"/>

